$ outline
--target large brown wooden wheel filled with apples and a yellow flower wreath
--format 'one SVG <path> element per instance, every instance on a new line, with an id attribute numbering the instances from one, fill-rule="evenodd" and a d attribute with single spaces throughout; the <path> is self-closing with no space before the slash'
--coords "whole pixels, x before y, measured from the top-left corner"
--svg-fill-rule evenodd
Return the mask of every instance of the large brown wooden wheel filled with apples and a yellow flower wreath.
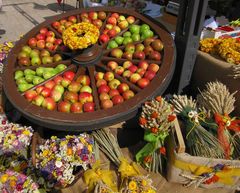
<path id="1" fill-rule="evenodd" d="M 161 83 L 168 84 L 171 43 L 171 35 L 132 10 L 75 10 L 37 26 L 16 44 L 4 89 L 39 124 L 98 128 L 130 117 Z"/>

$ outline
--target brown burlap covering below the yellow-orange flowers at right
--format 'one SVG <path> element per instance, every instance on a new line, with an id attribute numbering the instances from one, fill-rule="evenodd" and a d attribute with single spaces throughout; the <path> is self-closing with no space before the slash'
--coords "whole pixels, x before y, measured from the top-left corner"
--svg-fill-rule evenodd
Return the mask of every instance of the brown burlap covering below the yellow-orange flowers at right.
<path id="1" fill-rule="evenodd" d="M 207 82 L 219 80 L 225 84 L 230 92 L 238 91 L 235 96 L 236 116 L 240 115 L 240 79 L 232 77 L 233 64 L 223 61 L 217 56 L 198 51 L 192 74 L 191 88 L 198 93 L 197 89 L 203 90 Z"/>

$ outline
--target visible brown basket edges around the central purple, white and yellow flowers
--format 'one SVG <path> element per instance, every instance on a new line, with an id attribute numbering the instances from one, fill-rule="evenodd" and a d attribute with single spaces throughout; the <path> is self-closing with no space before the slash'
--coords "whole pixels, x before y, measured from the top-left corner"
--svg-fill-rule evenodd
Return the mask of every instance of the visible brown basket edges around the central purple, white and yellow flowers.
<path id="1" fill-rule="evenodd" d="M 43 138 L 41 138 L 41 136 L 39 135 L 38 132 L 35 132 L 33 134 L 33 137 L 32 137 L 32 146 L 31 146 L 32 164 L 33 164 L 34 167 L 36 167 L 37 146 L 39 146 L 41 144 L 44 144 L 44 143 L 45 143 L 45 140 Z M 62 188 L 71 187 L 72 185 L 74 185 L 83 176 L 83 173 L 84 173 L 83 169 L 77 171 L 76 174 L 74 174 L 75 179 L 74 179 L 74 181 L 71 184 L 69 184 L 69 185 L 67 185 L 65 187 L 55 186 L 54 188 L 55 189 L 62 189 Z"/>

